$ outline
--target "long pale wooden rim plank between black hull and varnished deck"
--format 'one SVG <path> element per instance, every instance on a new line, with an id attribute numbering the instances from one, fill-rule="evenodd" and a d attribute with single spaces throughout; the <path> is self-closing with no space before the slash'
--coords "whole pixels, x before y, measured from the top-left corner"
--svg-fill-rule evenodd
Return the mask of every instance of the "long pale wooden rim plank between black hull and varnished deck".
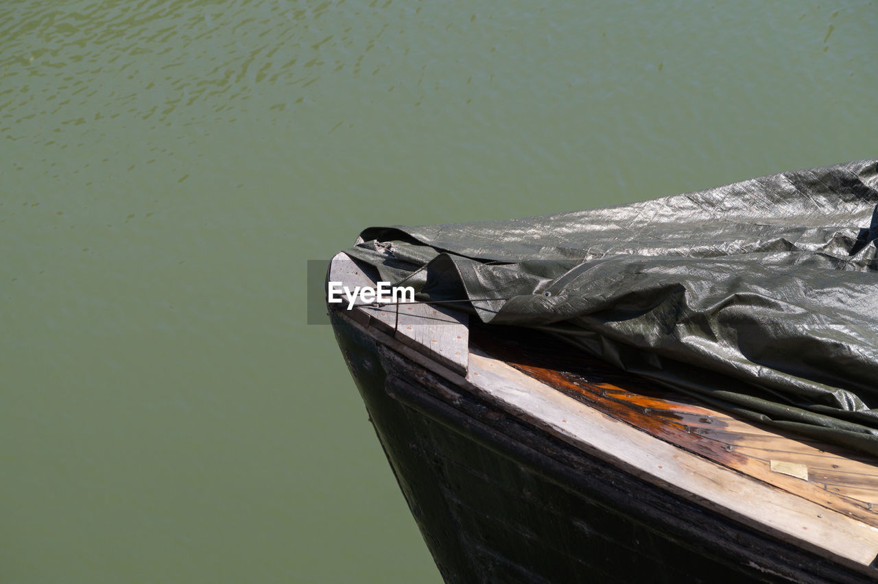
<path id="1" fill-rule="evenodd" d="M 741 523 L 863 566 L 878 555 L 878 529 L 654 438 L 484 353 L 470 355 L 466 380 L 583 451 Z"/>

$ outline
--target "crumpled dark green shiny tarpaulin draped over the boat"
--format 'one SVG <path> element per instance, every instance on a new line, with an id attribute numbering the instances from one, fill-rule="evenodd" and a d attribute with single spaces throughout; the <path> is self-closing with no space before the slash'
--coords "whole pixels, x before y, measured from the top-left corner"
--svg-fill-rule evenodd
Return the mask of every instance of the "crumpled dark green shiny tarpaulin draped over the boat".
<path id="1" fill-rule="evenodd" d="M 420 300 L 551 331 L 714 407 L 878 454 L 878 160 L 360 237 L 347 253 Z"/>

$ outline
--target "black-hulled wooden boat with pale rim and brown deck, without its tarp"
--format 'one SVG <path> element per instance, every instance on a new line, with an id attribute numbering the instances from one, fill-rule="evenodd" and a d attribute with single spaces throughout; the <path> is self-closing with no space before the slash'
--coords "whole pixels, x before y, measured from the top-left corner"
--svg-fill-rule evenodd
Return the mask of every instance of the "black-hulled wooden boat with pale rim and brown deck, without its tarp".
<path id="1" fill-rule="evenodd" d="M 327 274 L 375 282 L 343 253 Z M 878 466 L 424 303 L 335 308 L 446 581 L 878 579 Z"/>

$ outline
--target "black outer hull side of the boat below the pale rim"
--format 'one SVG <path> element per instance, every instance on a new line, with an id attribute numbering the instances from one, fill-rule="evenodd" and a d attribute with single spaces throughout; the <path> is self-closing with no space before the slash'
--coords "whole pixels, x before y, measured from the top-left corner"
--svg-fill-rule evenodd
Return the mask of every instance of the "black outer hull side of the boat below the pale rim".
<path id="1" fill-rule="evenodd" d="M 588 456 L 331 316 L 446 581 L 873 581 Z"/>

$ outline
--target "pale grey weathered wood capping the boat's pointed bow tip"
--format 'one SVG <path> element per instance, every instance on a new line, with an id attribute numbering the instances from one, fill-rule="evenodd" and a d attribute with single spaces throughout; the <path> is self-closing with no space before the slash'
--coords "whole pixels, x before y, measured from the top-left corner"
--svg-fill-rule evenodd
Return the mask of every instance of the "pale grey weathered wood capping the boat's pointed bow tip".
<path id="1" fill-rule="evenodd" d="M 350 288 L 376 285 L 345 253 L 332 259 L 328 279 L 343 281 Z M 458 374 L 466 373 L 470 333 L 464 313 L 419 302 L 385 306 L 357 303 L 353 310 L 347 310 L 347 303 L 343 303 L 335 310 L 344 310 L 360 324 L 378 327 Z"/>

